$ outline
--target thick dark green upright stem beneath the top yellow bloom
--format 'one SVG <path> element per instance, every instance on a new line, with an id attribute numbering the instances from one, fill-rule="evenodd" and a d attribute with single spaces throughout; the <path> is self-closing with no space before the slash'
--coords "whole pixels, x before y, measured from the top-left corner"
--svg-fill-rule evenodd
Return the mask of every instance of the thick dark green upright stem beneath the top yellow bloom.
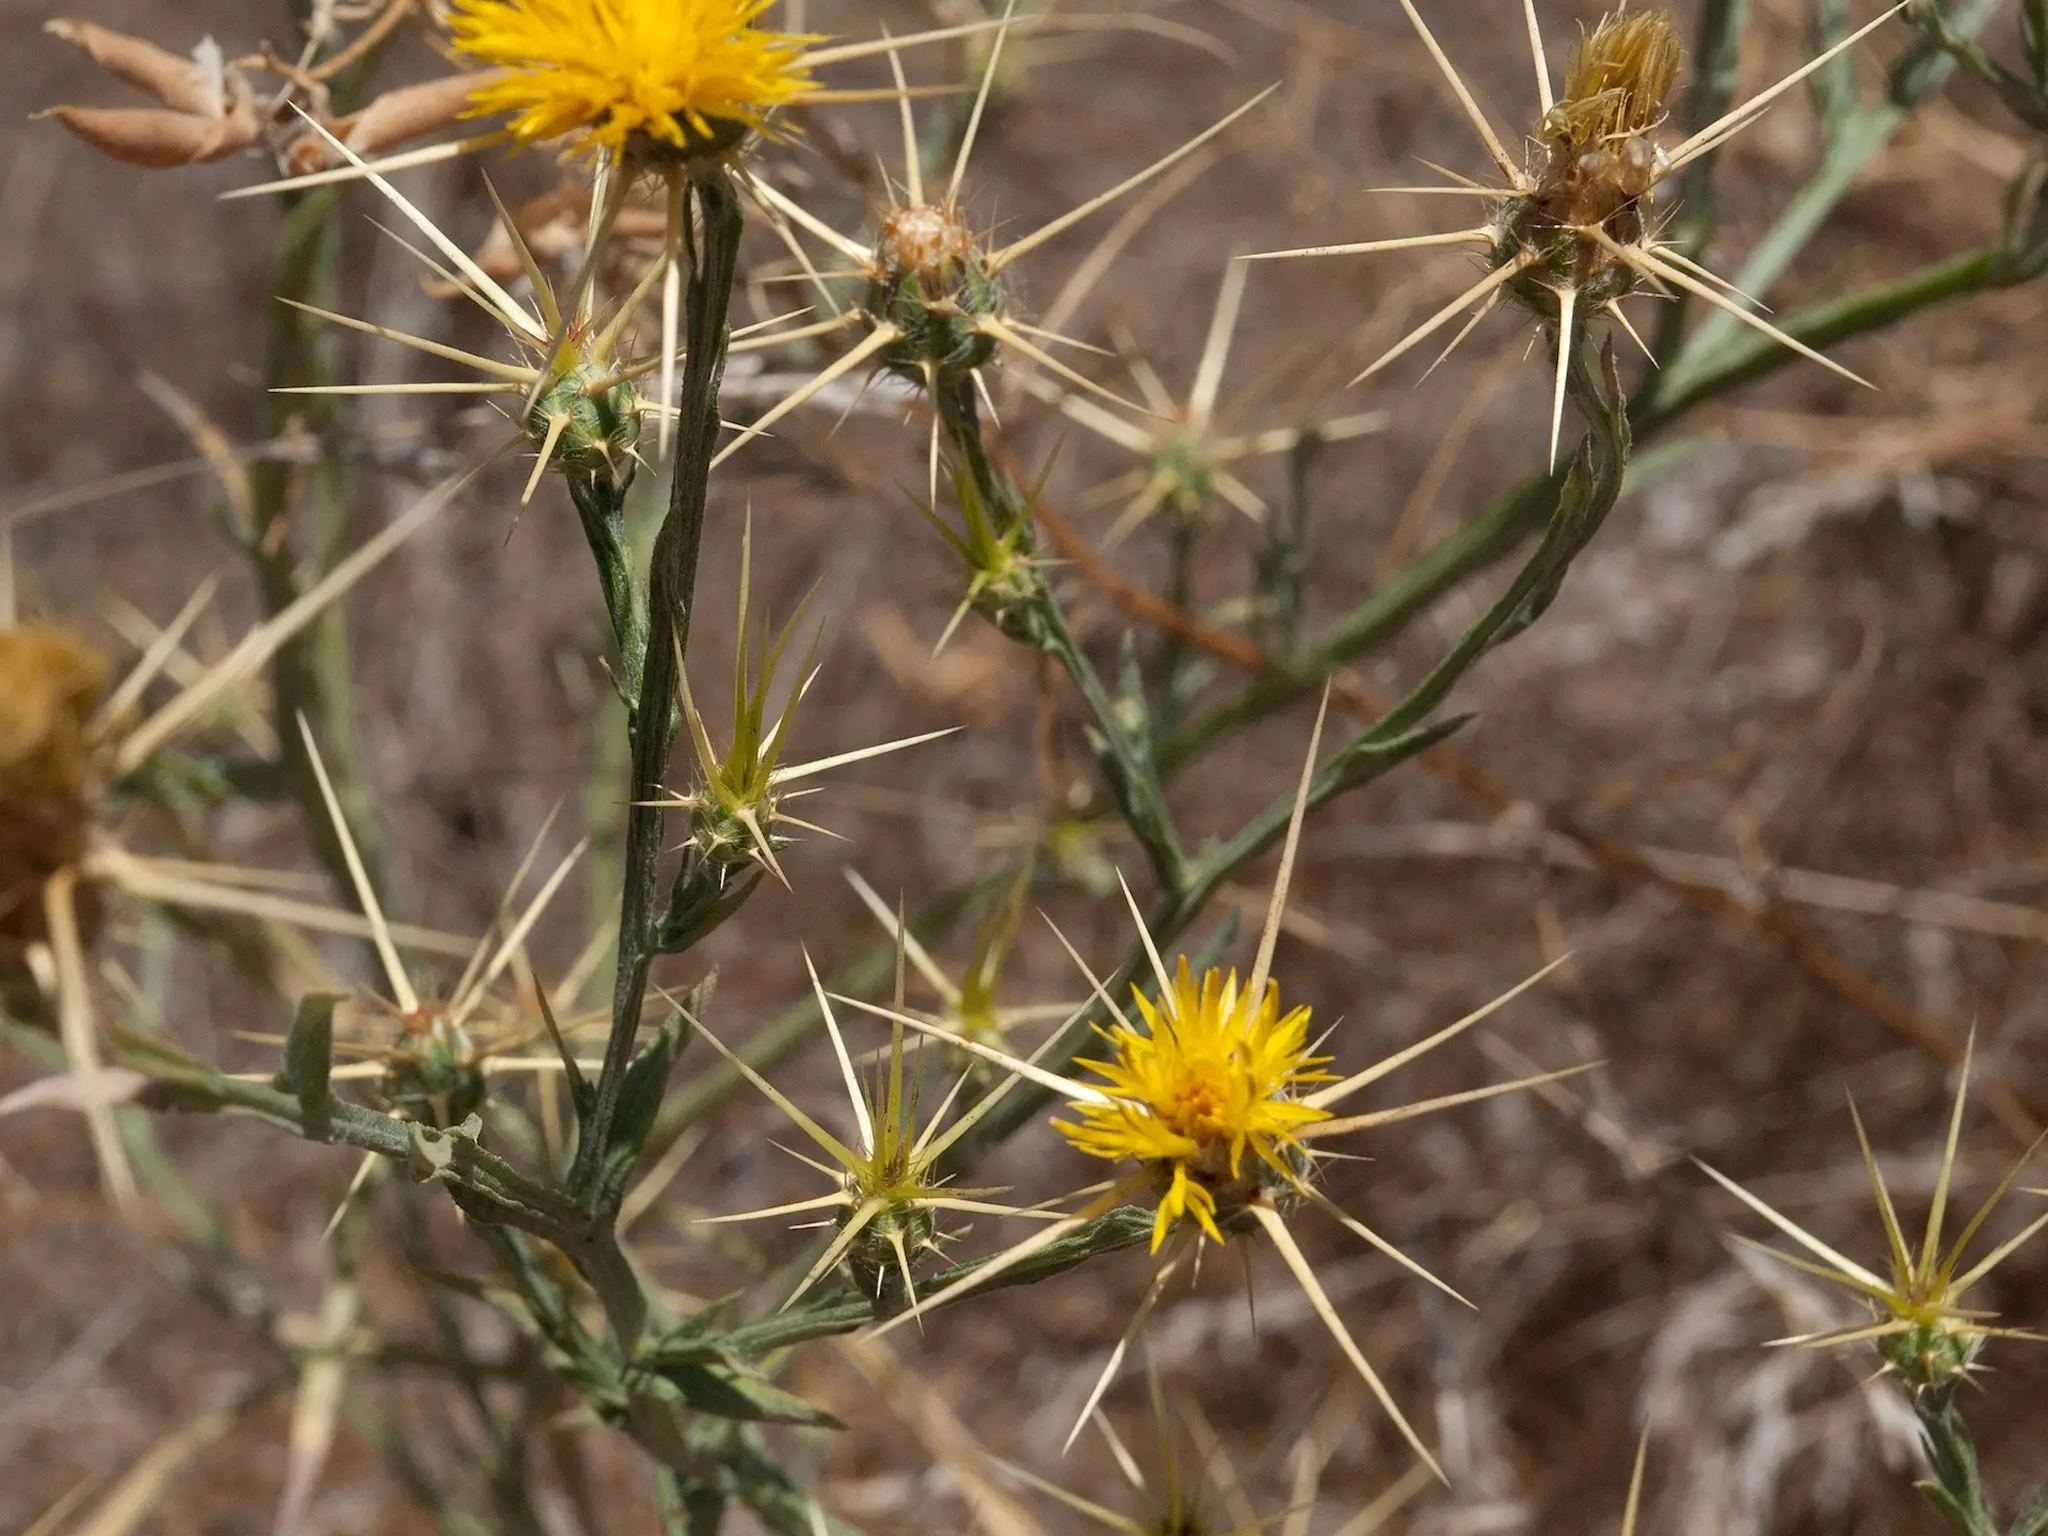
<path id="1" fill-rule="evenodd" d="M 571 1188 L 598 1198 L 596 1171 L 610 1149 L 612 1116 L 633 1042 L 639 1036 L 647 973 L 655 954 L 655 897 L 662 864 L 662 776 L 676 739 L 676 688 L 690 645 L 696 606 L 696 557 L 705 537 L 705 502 L 711 461 L 719 442 L 719 383 L 729 342 L 727 311 L 739 266 L 743 215 L 723 166 L 694 176 L 702 240 L 690 238 L 690 283 L 684 301 L 686 344 L 682 399 L 676 432 L 676 467 L 668 518 L 653 541 L 647 580 L 647 643 L 633 711 L 633 784 L 627 809 L 625 879 L 618 901 L 618 971 L 612 991 L 612 1030 L 604 1042 L 604 1069 L 596 1104 L 584 1124 Z"/>

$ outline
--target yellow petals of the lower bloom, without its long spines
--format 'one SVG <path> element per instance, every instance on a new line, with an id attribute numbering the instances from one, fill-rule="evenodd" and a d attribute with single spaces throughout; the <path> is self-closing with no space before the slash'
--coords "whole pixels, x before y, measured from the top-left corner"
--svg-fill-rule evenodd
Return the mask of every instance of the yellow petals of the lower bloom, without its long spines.
<path id="1" fill-rule="evenodd" d="M 1118 1024 L 1102 1032 L 1116 1055 L 1087 1063 L 1108 1100 L 1075 1102 L 1081 1124 L 1053 1124 L 1090 1157 L 1128 1157 L 1157 1169 L 1165 1192 L 1153 1251 L 1182 1217 L 1194 1217 L 1221 1243 L 1217 1194 L 1255 1194 L 1231 1190 L 1245 1180 L 1245 1151 L 1282 1184 L 1298 1182 L 1305 1153 L 1294 1133 L 1327 1120 L 1329 1110 L 1303 1104 L 1294 1092 L 1329 1081 L 1319 1071 L 1329 1057 L 1309 1055 L 1307 1008 L 1282 1014 L 1278 985 L 1253 999 L 1249 989 L 1239 991 L 1235 971 L 1212 969 L 1196 983 L 1182 956 L 1159 1004 L 1133 995 L 1145 1030 Z"/>

